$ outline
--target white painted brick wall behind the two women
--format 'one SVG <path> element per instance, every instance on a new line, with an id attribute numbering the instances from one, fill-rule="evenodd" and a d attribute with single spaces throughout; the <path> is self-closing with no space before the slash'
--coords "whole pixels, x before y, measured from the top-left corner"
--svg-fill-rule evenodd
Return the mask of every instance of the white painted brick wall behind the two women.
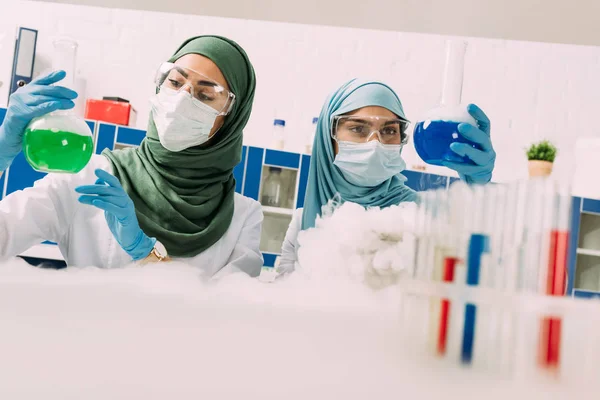
<path id="1" fill-rule="evenodd" d="M 300 151 L 301 143 L 292 139 L 303 137 L 326 95 L 352 77 L 388 82 L 413 121 L 440 95 L 444 36 L 2 1 L 0 105 L 6 103 L 12 38 L 19 25 L 40 31 L 37 72 L 49 65 L 53 36 L 77 39 L 85 96 L 131 100 L 140 128 L 146 126 L 157 65 L 187 37 L 207 33 L 239 42 L 256 68 L 256 101 L 245 132 L 249 145 L 268 146 L 272 120 L 279 117 L 288 122 L 292 147 Z M 600 137 L 594 124 L 600 109 L 600 48 L 468 41 L 463 99 L 479 104 L 492 119 L 498 153 L 494 179 L 526 176 L 523 148 L 541 138 L 557 143 L 557 173 L 568 173 L 575 139 Z M 404 155 L 409 166 L 419 162 L 412 146 Z"/>

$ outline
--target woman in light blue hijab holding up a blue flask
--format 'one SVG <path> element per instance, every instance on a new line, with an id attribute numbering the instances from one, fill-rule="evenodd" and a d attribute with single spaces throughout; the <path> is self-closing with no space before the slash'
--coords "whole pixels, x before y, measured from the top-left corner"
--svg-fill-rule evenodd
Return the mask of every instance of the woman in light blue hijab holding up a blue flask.
<path id="1" fill-rule="evenodd" d="M 468 156 L 475 165 L 449 160 L 446 166 L 469 183 L 487 183 L 495 160 L 489 119 L 475 105 L 469 105 L 468 111 L 478 127 L 461 124 L 458 130 L 480 143 L 481 150 L 453 143 L 451 149 Z M 329 96 L 313 143 L 304 209 L 294 213 L 283 243 L 280 271 L 295 268 L 298 233 L 315 226 L 322 207 L 330 200 L 337 198 L 364 207 L 417 200 L 417 193 L 404 184 L 406 178 L 401 174 L 406 168 L 401 152 L 408 139 L 407 126 L 398 95 L 384 83 L 354 79 Z"/>

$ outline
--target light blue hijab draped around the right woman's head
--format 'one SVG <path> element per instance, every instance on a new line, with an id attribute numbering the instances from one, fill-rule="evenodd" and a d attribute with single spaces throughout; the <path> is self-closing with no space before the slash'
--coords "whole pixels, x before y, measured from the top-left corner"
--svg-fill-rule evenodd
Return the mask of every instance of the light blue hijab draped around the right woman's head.
<path id="1" fill-rule="evenodd" d="M 333 164 L 334 150 L 331 122 L 337 115 L 347 114 L 367 106 L 387 108 L 397 116 L 406 118 L 398 95 L 381 82 L 353 79 L 335 91 L 325 101 L 313 143 L 308 187 L 304 197 L 302 229 L 315 226 L 321 208 L 339 193 L 343 202 L 350 201 L 363 207 L 389 207 L 404 201 L 416 201 L 414 190 L 404 185 L 406 178 L 395 175 L 376 187 L 361 187 L 348 182 Z"/>

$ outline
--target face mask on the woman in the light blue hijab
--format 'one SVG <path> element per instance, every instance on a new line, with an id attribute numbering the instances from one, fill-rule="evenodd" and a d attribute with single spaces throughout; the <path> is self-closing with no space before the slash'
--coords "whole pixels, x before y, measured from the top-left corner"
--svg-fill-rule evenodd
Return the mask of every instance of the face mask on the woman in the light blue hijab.
<path id="1" fill-rule="evenodd" d="M 362 187 L 375 187 L 406 169 L 400 155 L 402 145 L 338 142 L 338 154 L 333 161 L 348 182 Z"/>

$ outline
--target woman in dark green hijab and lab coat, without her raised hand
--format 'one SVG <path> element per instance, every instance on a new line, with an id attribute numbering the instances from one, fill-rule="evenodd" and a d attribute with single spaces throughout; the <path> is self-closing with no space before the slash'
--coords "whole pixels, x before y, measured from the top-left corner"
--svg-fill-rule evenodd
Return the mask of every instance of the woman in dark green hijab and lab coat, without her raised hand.
<path id="1" fill-rule="evenodd" d="M 248 56 L 223 37 L 191 38 L 155 84 L 139 148 L 104 151 L 80 173 L 49 174 L 0 203 L 0 257 L 52 240 L 68 265 L 173 259 L 209 276 L 259 273 L 261 207 L 235 193 L 233 177 L 254 99 Z"/>

